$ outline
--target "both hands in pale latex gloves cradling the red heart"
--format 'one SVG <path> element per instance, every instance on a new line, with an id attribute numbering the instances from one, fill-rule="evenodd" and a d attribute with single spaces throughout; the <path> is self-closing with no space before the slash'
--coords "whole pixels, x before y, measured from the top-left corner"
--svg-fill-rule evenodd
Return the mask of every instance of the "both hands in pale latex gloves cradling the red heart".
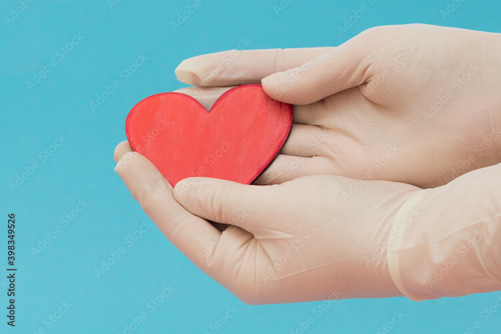
<path id="1" fill-rule="evenodd" d="M 122 142 L 116 171 L 164 235 L 247 303 L 501 289 L 499 39 L 388 26 L 337 48 L 187 59 L 176 75 L 200 87 L 178 92 L 207 109 L 260 82 L 293 104 L 281 154 L 255 185 L 190 178 L 173 189 Z M 479 233 L 481 251 L 429 281 Z"/>

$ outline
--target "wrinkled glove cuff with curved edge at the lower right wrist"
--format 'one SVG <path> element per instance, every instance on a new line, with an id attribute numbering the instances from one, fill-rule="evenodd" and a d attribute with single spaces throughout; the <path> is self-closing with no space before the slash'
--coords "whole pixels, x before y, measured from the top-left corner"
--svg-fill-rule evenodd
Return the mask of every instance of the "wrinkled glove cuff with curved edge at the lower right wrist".
<path id="1" fill-rule="evenodd" d="M 417 191 L 405 202 L 387 252 L 403 294 L 421 301 L 501 290 L 499 185 L 501 164 Z"/>

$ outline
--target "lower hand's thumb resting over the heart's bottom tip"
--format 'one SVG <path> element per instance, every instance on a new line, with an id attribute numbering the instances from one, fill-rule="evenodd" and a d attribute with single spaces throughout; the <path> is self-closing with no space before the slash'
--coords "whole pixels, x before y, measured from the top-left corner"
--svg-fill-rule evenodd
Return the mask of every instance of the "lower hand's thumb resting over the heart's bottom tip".
<path id="1" fill-rule="evenodd" d="M 174 199 L 194 215 L 246 230 L 259 222 L 259 193 L 259 186 L 208 177 L 187 178 L 174 187 Z"/>

